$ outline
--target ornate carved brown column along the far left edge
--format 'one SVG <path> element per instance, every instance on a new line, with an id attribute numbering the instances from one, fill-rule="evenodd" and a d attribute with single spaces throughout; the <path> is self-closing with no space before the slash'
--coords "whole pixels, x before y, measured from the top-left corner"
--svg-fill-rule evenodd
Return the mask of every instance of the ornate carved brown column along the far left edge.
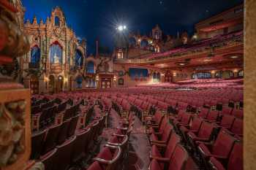
<path id="1" fill-rule="evenodd" d="M 12 4 L 12 3 L 13 4 Z M 0 65 L 13 66 L 13 59 L 29 51 L 29 40 L 16 22 L 15 1 L 0 1 Z M 0 78 L 0 169 L 30 169 L 31 95 L 12 77 Z M 43 169 L 40 166 L 39 169 Z"/>

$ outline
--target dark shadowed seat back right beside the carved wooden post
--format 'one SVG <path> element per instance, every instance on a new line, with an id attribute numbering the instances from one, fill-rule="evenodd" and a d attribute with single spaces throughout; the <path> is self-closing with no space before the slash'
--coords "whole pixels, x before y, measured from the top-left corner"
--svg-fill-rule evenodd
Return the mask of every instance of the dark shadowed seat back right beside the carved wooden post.
<path id="1" fill-rule="evenodd" d="M 40 157 L 42 151 L 42 144 L 45 139 L 45 134 L 46 130 L 32 135 L 30 159 L 38 159 Z"/>

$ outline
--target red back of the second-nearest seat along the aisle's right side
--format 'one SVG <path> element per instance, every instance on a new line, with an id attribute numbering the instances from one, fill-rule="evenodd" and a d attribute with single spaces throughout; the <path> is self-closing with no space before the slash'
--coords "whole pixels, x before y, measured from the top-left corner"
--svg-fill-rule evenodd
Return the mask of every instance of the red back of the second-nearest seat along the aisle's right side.
<path id="1" fill-rule="evenodd" d="M 170 135 L 170 140 L 167 144 L 167 148 L 165 150 L 165 158 L 170 158 L 171 155 L 173 155 L 173 151 L 176 147 L 176 145 L 181 142 L 181 137 L 178 136 L 174 131 Z"/>

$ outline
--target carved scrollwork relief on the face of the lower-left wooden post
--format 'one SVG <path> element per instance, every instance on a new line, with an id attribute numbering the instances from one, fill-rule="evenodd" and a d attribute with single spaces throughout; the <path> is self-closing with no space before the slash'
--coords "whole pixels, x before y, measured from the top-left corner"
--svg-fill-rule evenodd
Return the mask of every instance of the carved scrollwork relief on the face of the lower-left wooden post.
<path id="1" fill-rule="evenodd" d="M 0 104 L 0 166 L 15 163 L 25 151 L 26 101 L 11 101 Z"/>

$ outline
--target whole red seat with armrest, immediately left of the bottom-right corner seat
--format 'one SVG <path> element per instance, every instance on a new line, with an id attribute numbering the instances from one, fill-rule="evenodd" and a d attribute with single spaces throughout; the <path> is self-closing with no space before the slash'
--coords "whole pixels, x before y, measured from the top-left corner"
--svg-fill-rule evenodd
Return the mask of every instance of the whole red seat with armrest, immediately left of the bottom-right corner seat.
<path id="1" fill-rule="evenodd" d="M 210 142 L 198 142 L 200 157 L 203 159 L 205 166 L 208 167 L 210 157 L 221 160 L 227 159 L 235 141 L 236 139 L 230 136 L 230 134 L 227 134 L 225 131 L 219 131 L 214 144 Z"/>

